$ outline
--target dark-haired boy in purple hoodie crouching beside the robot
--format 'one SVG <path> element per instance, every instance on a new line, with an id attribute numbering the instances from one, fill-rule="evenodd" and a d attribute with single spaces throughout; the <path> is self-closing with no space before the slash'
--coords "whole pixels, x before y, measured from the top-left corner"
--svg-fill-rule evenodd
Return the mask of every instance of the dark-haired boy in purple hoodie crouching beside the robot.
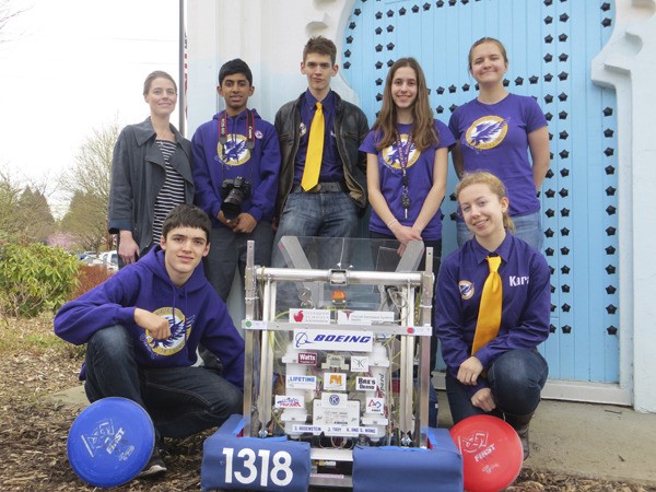
<path id="1" fill-rule="evenodd" d="M 80 377 L 89 400 L 136 401 L 153 420 L 157 444 L 242 412 L 244 341 L 200 266 L 211 226 L 202 210 L 176 207 L 160 245 L 55 316 L 59 337 L 87 343 Z M 194 365 L 199 342 L 220 358 L 221 375 Z M 141 476 L 166 471 L 157 444 Z"/>

